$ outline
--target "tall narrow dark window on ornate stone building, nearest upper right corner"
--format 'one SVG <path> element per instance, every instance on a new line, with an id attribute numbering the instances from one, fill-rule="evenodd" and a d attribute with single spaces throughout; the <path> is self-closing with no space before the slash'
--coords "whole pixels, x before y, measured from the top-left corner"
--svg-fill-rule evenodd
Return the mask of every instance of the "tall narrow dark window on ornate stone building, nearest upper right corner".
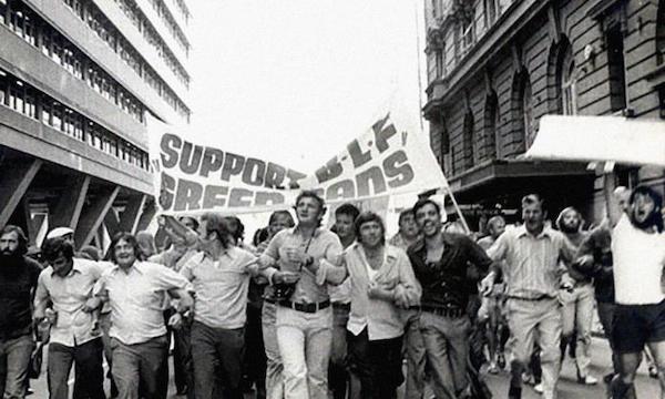
<path id="1" fill-rule="evenodd" d="M 610 104 L 612 111 L 626 108 L 626 69 L 624 62 L 623 33 L 618 23 L 605 32 L 607 44 L 607 68 L 610 69 Z"/>

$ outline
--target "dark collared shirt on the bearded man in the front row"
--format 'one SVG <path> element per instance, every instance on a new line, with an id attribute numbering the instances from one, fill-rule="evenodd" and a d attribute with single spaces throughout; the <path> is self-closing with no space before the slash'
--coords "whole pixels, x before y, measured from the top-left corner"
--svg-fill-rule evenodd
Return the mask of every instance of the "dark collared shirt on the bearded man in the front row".
<path id="1" fill-rule="evenodd" d="M 409 247 L 409 258 L 422 286 L 422 306 L 463 310 L 469 301 L 469 263 L 488 270 L 492 260 L 471 238 L 457 233 L 443 235 L 443 254 L 438 262 L 427 260 L 424 239 Z"/>

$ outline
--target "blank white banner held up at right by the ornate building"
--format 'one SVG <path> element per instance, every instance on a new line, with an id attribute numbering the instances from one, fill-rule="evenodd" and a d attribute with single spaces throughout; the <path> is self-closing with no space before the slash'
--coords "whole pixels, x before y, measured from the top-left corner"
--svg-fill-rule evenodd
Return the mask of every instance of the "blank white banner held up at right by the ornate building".
<path id="1" fill-rule="evenodd" d="M 616 161 L 665 167 L 665 122 L 622 116 L 544 115 L 524 157 Z"/>

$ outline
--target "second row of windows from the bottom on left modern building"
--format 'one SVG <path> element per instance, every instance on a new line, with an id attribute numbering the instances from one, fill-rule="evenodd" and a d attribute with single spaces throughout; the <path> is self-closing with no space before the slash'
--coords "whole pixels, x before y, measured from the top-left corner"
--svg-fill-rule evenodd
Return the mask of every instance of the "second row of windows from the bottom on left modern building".
<path id="1" fill-rule="evenodd" d="M 6 22 L 3 18 L 0 20 Z M 143 104 L 28 7 L 19 2 L 12 3 L 8 22 L 7 25 L 16 34 L 41 49 L 44 55 L 143 123 Z"/>

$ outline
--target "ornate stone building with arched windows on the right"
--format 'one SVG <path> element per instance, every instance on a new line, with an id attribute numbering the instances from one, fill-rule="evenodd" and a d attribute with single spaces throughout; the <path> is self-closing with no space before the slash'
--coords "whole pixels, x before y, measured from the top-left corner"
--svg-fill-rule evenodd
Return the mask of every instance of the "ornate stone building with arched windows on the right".
<path id="1" fill-rule="evenodd" d="M 665 117 L 664 0 L 426 0 L 431 146 L 478 228 L 526 192 L 587 219 L 602 212 L 586 165 L 520 158 L 544 114 Z M 665 134 L 665 124 L 664 124 Z M 570 143 L 570 145 L 575 145 Z M 622 168 L 620 182 L 661 171 Z"/>

